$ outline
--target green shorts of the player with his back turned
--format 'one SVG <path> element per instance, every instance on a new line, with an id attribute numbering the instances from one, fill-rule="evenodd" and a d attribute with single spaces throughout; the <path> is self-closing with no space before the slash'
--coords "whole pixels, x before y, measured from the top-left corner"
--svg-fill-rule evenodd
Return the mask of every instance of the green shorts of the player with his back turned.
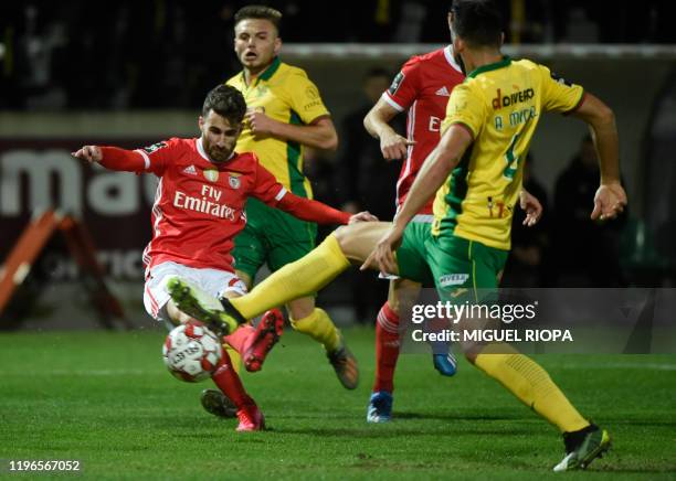
<path id="1" fill-rule="evenodd" d="M 399 276 L 434 286 L 442 300 L 458 300 L 479 289 L 495 289 L 508 250 L 488 247 L 451 233 L 431 233 L 432 224 L 410 223 L 397 249 Z"/>

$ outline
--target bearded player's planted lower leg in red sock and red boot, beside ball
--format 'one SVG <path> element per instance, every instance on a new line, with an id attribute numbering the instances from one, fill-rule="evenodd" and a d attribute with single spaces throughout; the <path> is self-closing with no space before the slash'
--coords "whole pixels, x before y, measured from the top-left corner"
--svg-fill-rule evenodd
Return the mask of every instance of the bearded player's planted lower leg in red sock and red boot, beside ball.
<path id="1" fill-rule="evenodd" d="M 211 378 L 219 389 L 221 389 L 236 407 L 236 416 L 240 419 L 240 424 L 236 428 L 237 431 L 257 431 L 265 429 L 263 413 L 261 413 L 253 398 L 246 394 L 242 381 L 240 381 L 240 376 L 232 367 L 230 356 L 226 352 L 223 352 L 223 357 L 219 362 Z M 207 396 L 203 395 L 202 398 L 210 400 L 210 397 Z M 207 410 L 214 414 L 209 409 L 208 405 L 202 405 Z"/>

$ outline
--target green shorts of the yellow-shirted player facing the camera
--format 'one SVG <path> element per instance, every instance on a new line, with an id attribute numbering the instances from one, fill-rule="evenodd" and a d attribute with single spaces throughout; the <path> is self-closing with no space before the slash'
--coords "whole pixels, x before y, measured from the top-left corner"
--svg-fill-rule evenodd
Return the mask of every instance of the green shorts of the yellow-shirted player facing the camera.
<path id="1" fill-rule="evenodd" d="M 249 199 L 246 227 L 234 242 L 234 267 L 253 280 L 263 264 L 274 271 L 305 256 L 315 248 L 316 237 L 317 224 Z"/>

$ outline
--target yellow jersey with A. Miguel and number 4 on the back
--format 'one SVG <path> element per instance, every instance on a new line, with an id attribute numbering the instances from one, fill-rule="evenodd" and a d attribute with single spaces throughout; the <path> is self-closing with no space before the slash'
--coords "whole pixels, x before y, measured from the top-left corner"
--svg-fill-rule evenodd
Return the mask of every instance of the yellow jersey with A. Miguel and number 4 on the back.
<path id="1" fill-rule="evenodd" d="M 508 250 L 524 160 L 540 116 L 572 111 L 583 96 L 581 86 L 528 60 L 504 57 L 467 75 L 451 94 L 441 131 L 460 124 L 474 142 L 436 192 L 432 233 Z"/>

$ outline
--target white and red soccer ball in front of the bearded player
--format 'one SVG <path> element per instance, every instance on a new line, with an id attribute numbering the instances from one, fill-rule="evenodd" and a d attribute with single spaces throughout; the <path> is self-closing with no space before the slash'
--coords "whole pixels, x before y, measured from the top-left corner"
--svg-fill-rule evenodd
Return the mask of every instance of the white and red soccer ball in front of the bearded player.
<path id="1" fill-rule="evenodd" d="M 201 322 L 175 328 L 162 346 L 165 365 L 181 381 L 197 383 L 211 376 L 223 356 L 219 338 Z"/>

